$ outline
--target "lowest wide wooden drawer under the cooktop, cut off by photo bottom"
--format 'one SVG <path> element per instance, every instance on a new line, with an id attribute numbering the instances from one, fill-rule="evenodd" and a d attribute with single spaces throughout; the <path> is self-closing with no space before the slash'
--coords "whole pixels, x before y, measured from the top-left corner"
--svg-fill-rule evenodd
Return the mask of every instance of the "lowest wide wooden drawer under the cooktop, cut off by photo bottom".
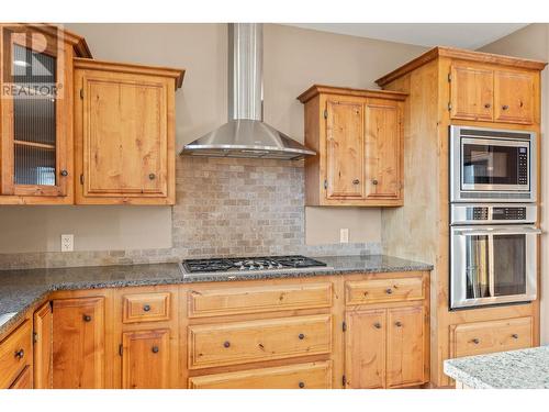
<path id="1" fill-rule="evenodd" d="M 206 375 L 189 379 L 190 389 L 330 389 L 332 361 Z"/>

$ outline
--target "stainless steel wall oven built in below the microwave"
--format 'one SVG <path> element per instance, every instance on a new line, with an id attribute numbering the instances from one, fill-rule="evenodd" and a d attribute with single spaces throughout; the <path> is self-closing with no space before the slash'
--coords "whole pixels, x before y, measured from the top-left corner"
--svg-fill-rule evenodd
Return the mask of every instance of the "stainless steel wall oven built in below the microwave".
<path id="1" fill-rule="evenodd" d="M 450 308 L 536 299 L 535 204 L 452 204 Z"/>

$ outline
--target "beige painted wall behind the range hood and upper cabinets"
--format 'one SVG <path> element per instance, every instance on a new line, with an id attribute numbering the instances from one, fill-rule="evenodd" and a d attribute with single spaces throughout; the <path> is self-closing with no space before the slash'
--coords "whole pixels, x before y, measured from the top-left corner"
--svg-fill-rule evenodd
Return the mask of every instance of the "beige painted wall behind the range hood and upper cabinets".
<path id="1" fill-rule="evenodd" d="M 226 121 L 225 24 L 66 24 L 83 35 L 98 59 L 182 67 L 178 146 Z M 373 88 L 374 79 L 423 47 L 298 27 L 265 26 L 265 120 L 303 141 L 303 108 L 295 97 L 312 83 Z M 77 250 L 163 248 L 171 237 L 170 208 L 0 207 L 0 253 L 59 249 L 74 233 Z M 379 209 L 307 209 L 306 241 L 380 242 Z M 22 224 L 25 222 L 25 224 Z M 32 224 L 26 224 L 32 222 Z M 191 223 L 190 223 L 191 224 Z M 24 230 L 18 227 L 25 226 Z"/>

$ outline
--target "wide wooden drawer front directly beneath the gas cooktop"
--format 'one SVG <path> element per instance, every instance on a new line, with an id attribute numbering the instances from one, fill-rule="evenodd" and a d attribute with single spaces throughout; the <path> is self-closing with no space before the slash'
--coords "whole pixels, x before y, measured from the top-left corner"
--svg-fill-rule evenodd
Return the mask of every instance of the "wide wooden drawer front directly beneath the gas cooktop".
<path id="1" fill-rule="evenodd" d="M 189 318 L 329 308 L 330 305 L 332 283 L 189 291 Z"/>

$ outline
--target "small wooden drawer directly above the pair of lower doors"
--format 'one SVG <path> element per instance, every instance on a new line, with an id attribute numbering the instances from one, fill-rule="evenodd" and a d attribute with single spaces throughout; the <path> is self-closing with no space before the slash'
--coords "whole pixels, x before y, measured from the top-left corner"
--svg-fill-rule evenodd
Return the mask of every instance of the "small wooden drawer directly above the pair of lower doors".
<path id="1" fill-rule="evenodd" d="M 424 299 L 421 276 L 394 279 L 349 280 L 345 282 L 346 304 L 367 304 Z"/>

